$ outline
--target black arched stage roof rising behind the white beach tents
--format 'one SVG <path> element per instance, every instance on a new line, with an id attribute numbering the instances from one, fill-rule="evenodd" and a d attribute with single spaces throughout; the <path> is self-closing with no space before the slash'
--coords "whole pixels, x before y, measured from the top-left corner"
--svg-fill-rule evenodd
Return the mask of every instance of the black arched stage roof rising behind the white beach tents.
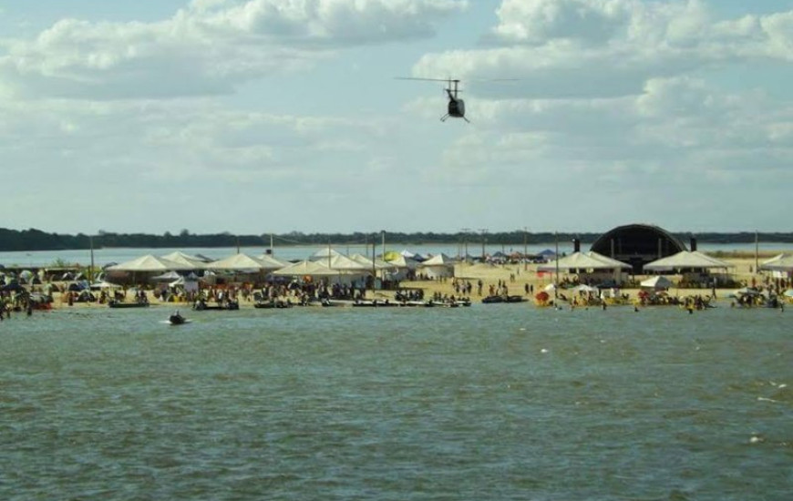
<path id="1" fill-rule="evenodd" d="M 591 250 L 630 263 L 636 273 L 650 261 L 687 251 L 675 235 L 650 224 L 628 224 L 607 231 L 592 243 Z"/>

